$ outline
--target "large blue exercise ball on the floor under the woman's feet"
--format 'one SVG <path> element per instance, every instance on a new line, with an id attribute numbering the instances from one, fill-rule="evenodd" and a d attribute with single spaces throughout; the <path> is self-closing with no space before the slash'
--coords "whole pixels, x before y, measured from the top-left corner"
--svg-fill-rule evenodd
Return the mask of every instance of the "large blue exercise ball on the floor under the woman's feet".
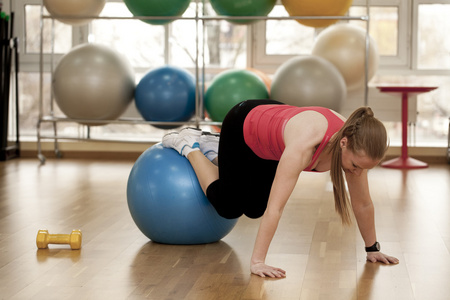
<path id="1" fill-rule="evenodd" d="M 127 199 L 137 227 L 158 243 L 217 242 L 237 222 L 219 216 L 189 161 L 161 144 L 150 147 L 137 159 L 128 178 Z"/>

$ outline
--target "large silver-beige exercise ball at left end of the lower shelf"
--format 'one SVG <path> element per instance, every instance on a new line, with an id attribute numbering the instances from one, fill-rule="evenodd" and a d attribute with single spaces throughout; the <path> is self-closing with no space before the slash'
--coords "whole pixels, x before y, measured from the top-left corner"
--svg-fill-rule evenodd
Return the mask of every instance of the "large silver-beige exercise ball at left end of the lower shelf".
<path id="1" fill-rule="evenodd" d="M 72 119 L 114 120 L 127 109 L 135 89 L 128 62 L 96 44 L 77 46 L 64 55 L 52 81 L 56 103 Z"/>

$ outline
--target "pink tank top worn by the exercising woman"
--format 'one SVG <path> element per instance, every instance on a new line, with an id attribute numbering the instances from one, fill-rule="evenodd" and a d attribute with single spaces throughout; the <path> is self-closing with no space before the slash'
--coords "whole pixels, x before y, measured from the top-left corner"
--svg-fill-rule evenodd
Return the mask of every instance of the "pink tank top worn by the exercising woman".
<path id="1" fill-rule="evenodd" d="M 283 139 L 286 123 L 295 115 L 312 110 L 321 113 L 328 121 L 328 129 L 304 171 L 311 171 L 320 153 L 334 133 L 344 125 L 336 114 L 324 107 L 297 107 L 290 105 L 259 105 L 252 109 L 244 121 L 244 140 L 247 146 L 262 159 L 280 160 L 285 144 Z"/>

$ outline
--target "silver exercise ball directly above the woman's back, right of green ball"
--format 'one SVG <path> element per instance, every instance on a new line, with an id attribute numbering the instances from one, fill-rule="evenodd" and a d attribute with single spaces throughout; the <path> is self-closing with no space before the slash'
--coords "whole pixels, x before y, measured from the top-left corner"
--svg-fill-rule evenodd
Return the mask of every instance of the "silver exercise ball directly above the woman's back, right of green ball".
<path id="1" fill-rule="evenodd" d="M 333 64 L 317 56 L 293 57 L 275 72 L 270 97 L 294 106 L 323 106 L 339 111 L 347 96 L 345 81 Z"/>

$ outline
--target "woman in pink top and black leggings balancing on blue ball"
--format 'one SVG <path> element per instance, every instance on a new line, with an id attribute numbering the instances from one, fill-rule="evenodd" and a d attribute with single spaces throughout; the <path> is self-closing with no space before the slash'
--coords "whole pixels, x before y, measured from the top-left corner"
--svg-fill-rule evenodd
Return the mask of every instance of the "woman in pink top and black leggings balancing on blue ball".
<path id="1" fill-rule="evenodd" d="M 165 135 L 163 146 L 187 157 L 207 198 L 221 216 L 262 216 L 250 266 L 256 275 L 286 276 L 284 270 L 266 265 L 265 259 L 302 171 L 330 170 L 336 211 L 342 222 L 349 224 L 350 208 L 353 209 L 367 260 L 398 263 L 397 258 L 379 251 L 375 233 L 367 170 L 384 157 L 387 135 L 368 107 L 357 109 L 345 120 L 327 108 L 247 100 L 229 111 L 222 123 L 220 140 L 199 129 L 185 128 Z"/>

